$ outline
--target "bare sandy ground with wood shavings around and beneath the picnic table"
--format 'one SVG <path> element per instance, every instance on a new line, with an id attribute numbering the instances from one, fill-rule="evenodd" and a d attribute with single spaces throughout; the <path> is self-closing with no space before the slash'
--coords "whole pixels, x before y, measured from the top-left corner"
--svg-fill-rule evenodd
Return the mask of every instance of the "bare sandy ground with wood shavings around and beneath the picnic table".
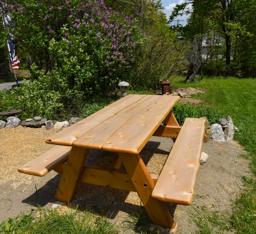
<path id="1" fill-rule="evenodd" d="M 29 176 L 18 173 L 17 169 L 53 147 L 45 144 L 44 139 L 54 133 L 55 130 L 23 127 L 0 130 L 0 222 L 33 208 L 35 204 L 52 207 L 60 176 L 54 171 L 44 177 Z M 151 137 L 141 152 L 150 173 L 160 173 L 172 146 L 172 139 Z M 203 151 L 209 158 L 200 165 L 193 205 L 204 205 L 208 209 L 214 206 L 222 212 L 229 211 L 229 204 L 240 192 L 241 175 L 247 175 L 249 171 L 249 161 L 239 156 L 246 151 L 239 144 L 214 141 L 204 144 Z M 109 152 L 90 151 L 87 163 L 109 166 L 112 157 Z M 79 184 L 75 197 L 79 197 L 79 201 L 72 203 L 74 207 L 78 204 L 81 209 L 108 216 L 116 224 L 121 224 L 131 211 L 139 211 L 141 205 L 135 192 L 90 184 Z M 193 208 L 174 204 L 168 207 L 178 224 L 178 233 L 190 233 L 192 224 L 189 214 Z"/>

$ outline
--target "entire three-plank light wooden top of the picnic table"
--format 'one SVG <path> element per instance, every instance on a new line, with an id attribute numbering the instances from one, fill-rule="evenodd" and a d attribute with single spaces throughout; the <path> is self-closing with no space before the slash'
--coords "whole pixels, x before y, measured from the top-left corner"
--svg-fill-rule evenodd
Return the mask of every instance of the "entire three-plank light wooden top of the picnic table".
<path id="1" fill-rule="evenodd" d="M 179 99 L 172 95 L 130 94 L 45 142 L 138 154 Z"/>

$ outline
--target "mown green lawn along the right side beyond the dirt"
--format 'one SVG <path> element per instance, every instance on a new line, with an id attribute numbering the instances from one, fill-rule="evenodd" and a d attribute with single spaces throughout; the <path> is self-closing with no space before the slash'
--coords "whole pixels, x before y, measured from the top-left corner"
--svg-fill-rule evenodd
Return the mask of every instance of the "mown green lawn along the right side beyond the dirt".
<path id="1" fill-rule="evenodd" d="M 249 152 L 251 159 L 251 174 L 244 180 L 241 196 L 234 203 L 233 213 L 227 218 L 231 229 L 235 233 L 256 233 L 256 80 L 255 79 L 217 79 L 204 78 L 194 83 L 184 83 L 184 79 L 173 83 L 174 88 L 202 88 L 207 93 L 197 94 L 193 98 L 204 99 L 202 106 L 211 107 L 222 113 L 230 115 L 234 125 L 238 127 L 236 140 Z M 205 216 L 201 216 L 203 218 Z M 197 216 L 198 218 L 198 216 Z M 207 220 L 207 219 L 205 219 Z M 211 221 L 208 220 L 211 224 Z M 202 224 L 202 223 L 201 223 Z M 216 225 L 216 224 L 215 224 Z M 225 225 L 224 225 L 225 226 Z M 223 225 L 222 227 L 225 228 Z M 200 233 L 214 233 L 200 228 Z"/>

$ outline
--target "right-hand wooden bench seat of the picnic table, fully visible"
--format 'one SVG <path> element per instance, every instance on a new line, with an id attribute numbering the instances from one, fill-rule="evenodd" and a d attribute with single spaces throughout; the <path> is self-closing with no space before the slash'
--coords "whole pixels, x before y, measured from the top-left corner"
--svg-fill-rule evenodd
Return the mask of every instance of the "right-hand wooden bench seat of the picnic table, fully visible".
<path id="1" fill-rule="evenodd" d="M 154 186 L 154 199 L 191 205 L 203 146 L 204 122 L 204 119 L 186 118 Z"/>

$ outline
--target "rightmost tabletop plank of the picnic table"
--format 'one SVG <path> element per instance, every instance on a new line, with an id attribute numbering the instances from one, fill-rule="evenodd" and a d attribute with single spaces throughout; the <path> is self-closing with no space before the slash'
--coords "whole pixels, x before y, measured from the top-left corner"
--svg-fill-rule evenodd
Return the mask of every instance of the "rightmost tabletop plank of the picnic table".
<path id="1" fill-rule="evenodd" d="M 178 96 L 160 96 L 150 105 L 131 117 L 102 146 L 102 150 L 139 154 L 165 119 Z"/>

